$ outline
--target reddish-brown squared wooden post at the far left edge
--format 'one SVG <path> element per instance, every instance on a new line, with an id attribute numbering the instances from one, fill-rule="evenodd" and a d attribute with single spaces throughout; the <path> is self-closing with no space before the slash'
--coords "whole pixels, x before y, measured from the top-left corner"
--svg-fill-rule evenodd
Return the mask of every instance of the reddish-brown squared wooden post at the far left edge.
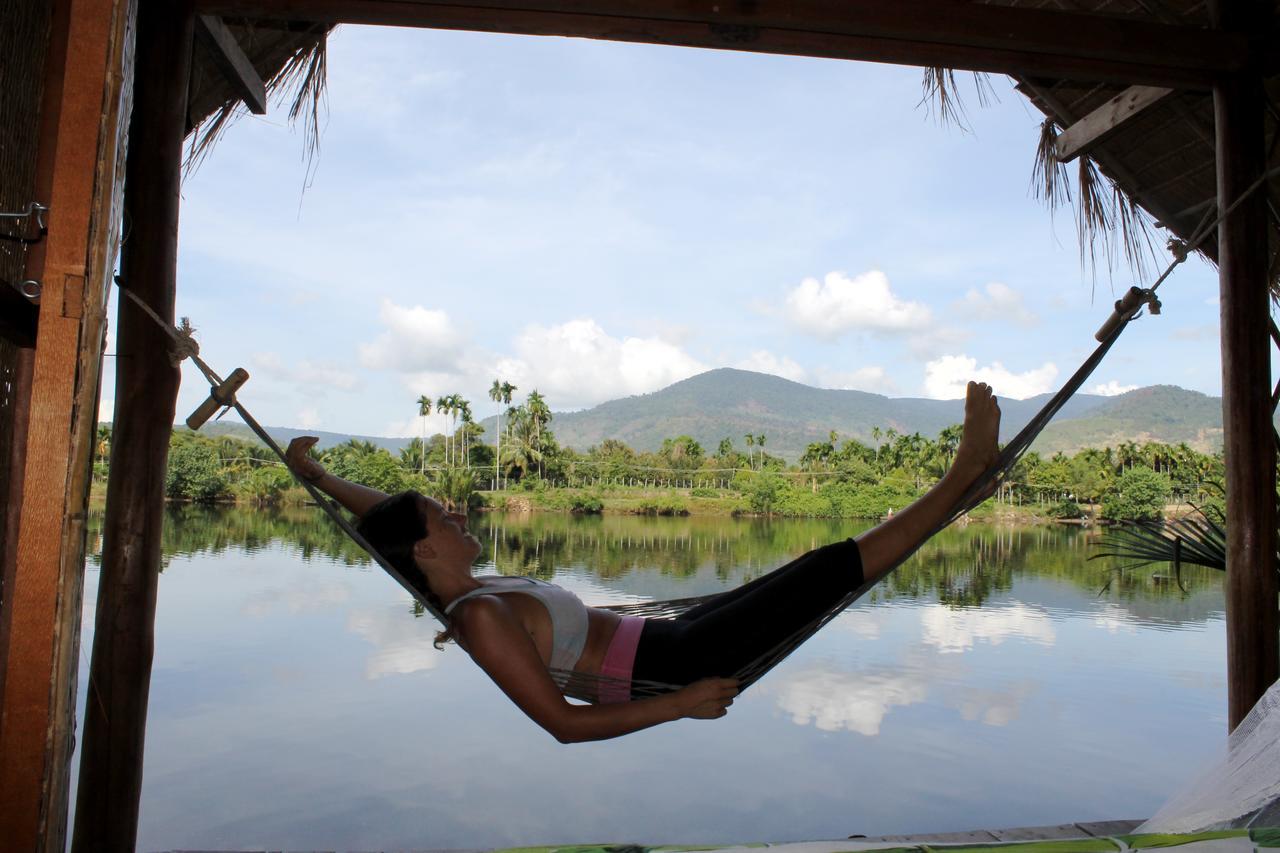
<path id="1" fill-rule="evenodd" d="M 44 291 L 18 469 L 18 543 L 0 635 L 0 839 L 12 850 L 65 849 L 84 516 L 102 296 L 120 223 L 132 13 L 129 0 L 58 0 L 51 8 L 36 168 L 49 234 L 27 261 Z"/>

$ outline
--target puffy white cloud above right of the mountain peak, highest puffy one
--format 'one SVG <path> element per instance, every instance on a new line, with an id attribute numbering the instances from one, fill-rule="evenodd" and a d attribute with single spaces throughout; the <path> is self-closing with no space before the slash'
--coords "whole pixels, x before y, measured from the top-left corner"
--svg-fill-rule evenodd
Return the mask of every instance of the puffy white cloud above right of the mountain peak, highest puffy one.
<path id="1" fill-rule="evenodd" d="M 914 332 L 933 321 L 927 305 L 896 297 L 879 270 L 854 278 L 827 273 L 822 282 L 806 278 L 787 293 L 785 313 L 800 329 L 826 338 L 854 330 Z"/>

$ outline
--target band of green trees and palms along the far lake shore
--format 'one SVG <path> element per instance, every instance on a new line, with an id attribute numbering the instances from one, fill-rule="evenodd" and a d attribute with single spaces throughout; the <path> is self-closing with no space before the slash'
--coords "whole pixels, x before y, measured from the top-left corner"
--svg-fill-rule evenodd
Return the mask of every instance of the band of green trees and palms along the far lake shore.
<path id="1" fill-rule="evenodd" d="M 780 380 L 782 382 L 782 380 Z M 794 384 L 794 383 L 791 383 Z M 490 398 L 506 405 L 509 383 L 494 380 Z M 494 443 L 485 441 L 471 403 L 460 394 L 412 401 L 420 437 L 398 455 L 351 438 L 319 453 L 338 476 L 384 492 L 417 489 L 453 507 L 548 510 L 584 515 L 759 515 L 879 519 L 906 506 L 951 465 L 960 426 L 936 438 L 872 426 L 872 443 L 836 430 L 809 442 L 799 461 L 769 453 L 765 432 L 705 444 L 691 433 L 667 437 L 652 452 L 608 438 L 579 452 L 552 429 L 547 400 L 531 391 L 508 406 Z M 431 414 L 447 432 L 428 435 Z M 716 452 L 708 452 L 714 446 Z M 189 502 L 301 503 L 308 500 L 279 461 L 257 442 L 230 434 L 173 433 L 165 488 Z M 95 471 L 106 476 L 110 430 L 100 429 Z M 1101 506 L 1105 519 L 1158 519 L 1170 501 L 1212 502 L 1206 483 L 1221 482 L 1220 456 L 1188 444 L 1121 442 L 1075 455 L 1027 453 L 978 517 L 1080 519 Z"/>

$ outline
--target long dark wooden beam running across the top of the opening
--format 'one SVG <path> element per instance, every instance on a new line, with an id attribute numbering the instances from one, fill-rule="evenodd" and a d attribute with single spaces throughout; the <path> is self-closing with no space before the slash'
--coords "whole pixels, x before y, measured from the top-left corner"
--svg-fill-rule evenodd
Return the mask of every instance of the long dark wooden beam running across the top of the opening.
<path id="1" fill-rule="evenodd" d="M 748 50 L 1207 90 L 1242 35 L 954 0 L 197 0 L 237 18 Z"/>

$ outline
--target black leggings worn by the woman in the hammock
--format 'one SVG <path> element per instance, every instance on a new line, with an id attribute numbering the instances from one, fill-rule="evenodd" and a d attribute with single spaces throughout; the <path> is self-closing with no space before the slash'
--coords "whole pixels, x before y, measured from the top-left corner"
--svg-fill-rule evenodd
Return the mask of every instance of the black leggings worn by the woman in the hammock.
<path id="1" fill-rule="evenodd" d="M 858 543 L 823 546 L 676 619 L 646 619 L 631 678 L 691 684 L 732 676 L 861 585 Z"/>

